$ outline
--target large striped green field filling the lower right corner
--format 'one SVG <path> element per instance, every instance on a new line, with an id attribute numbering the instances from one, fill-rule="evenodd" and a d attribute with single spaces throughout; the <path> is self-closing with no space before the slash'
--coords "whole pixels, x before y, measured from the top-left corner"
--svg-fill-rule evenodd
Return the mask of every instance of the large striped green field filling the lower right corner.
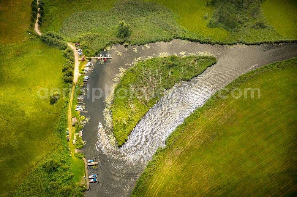
<path id="1" fill-rule="evenodd" d="M 208 99 L 157 150 L 132 196 L 296 196 L 296 65 L 266 65 L 226 86 L 227 99 Z M 234 99 L 235 87 L 259 88 L 260 99 Z"/>

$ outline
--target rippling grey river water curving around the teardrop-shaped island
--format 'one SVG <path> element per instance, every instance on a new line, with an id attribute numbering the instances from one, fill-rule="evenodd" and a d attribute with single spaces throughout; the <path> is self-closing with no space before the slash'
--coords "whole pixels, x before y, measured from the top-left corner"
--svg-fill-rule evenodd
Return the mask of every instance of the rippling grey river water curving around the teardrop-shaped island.
<path id="1" fill-rule="evenodd" d="M 91 183 L 87 196 L 129 196 L 136 179 L 159 146 L 165 146 L 168 135 L 183 122 L 197 107 L 216 91 L 230 83 L 238 76 L 252 70 L 253 65 L 261 67 L 279 60 L 297 56 L 297 44 L 233 46 L 208 45 L 182 40 L 156 42 L 145 46 L 113 45 L 109 51 L 113 59 L 104 64 L 95 63 L 89 76 L 88 86 L 101 88 L 101 99 L 84 99 L 89 122 L 83 130 L 83 140 L 87 142 L 82 151 L 86 159 L 95 159 L 97 169 L 89 167 L 90 174 L 98 174 L 99 182 Z M 110 143 L 109 133 L 98 131 L 98 122 L 105 125 L 103 109 L 104 98 L 114 83 L 112 78 L 119 72 L 119 67 L 128 68 L 140 59 L 153 56 L 176 54 L 211 55 L 217 63 L 203 74 L 189 82 L 181 82 L 170 89 L 140 120 L 129 135 L 128 141 L 121 147 Z M 136 59 L 135 59 L 136 58 Z M 99 91 L 96 92 L 99 95 Z"/>

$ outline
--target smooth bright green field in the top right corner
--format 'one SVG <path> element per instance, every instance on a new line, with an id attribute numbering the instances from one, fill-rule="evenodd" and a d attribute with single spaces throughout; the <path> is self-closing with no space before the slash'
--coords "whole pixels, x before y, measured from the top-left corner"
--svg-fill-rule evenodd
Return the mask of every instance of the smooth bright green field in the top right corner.
<path id="1" fill-rule="evenodd" d="M 261 5 L 269 24 L 285 37 L 297 38 L 297 1 L 265 0 Z"/>

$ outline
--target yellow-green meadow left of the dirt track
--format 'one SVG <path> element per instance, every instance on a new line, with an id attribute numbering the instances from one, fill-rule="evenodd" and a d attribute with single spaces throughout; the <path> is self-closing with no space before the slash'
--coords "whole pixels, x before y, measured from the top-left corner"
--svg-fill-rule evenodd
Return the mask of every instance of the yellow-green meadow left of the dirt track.
<path id="1" fill-rule="evenodd" d="M 62 79 L 66 59 L 61 50 L 27 33 L 32 30 L 30 3 L 5 1 L 0 7 L 0 196 L 69 195 L 75 186 L 65 152 L 68 98 L 51 105 L 37 96 L 39 88 L 67 87 Z M 43 164 L 51 158 L 58 167 L 47 172 Z"/>

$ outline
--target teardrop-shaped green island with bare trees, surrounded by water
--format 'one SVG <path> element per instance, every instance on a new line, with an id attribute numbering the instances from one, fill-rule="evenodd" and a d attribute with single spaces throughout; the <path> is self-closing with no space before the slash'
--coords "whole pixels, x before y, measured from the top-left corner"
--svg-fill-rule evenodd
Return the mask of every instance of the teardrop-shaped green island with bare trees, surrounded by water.
<path id="1" fill-rule="evenodd" d="M 141 117 L 163 96 L 164 89 L 172 88 L 181 80 L 191 80 L 216 61 L 211 56 L 172 55 L 141 61 L 129 68 L 116 85 L 111 105 L 118 146 L 127 141 Z"/>

